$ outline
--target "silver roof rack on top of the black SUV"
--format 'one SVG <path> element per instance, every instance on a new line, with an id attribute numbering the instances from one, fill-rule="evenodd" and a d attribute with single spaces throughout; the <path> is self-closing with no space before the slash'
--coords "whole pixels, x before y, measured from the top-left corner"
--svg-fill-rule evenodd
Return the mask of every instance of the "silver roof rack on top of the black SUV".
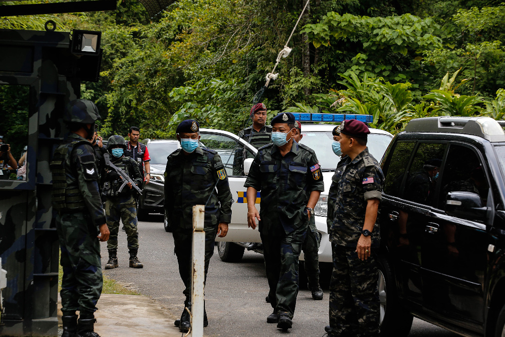
<path id="1" fill-rule="evenodd" d="M 413 119 L 405 127 L 406 132 L 465 133 L 489 141 L 505 141 L 505 121 L 490 117 L 427 117 Z"/>

